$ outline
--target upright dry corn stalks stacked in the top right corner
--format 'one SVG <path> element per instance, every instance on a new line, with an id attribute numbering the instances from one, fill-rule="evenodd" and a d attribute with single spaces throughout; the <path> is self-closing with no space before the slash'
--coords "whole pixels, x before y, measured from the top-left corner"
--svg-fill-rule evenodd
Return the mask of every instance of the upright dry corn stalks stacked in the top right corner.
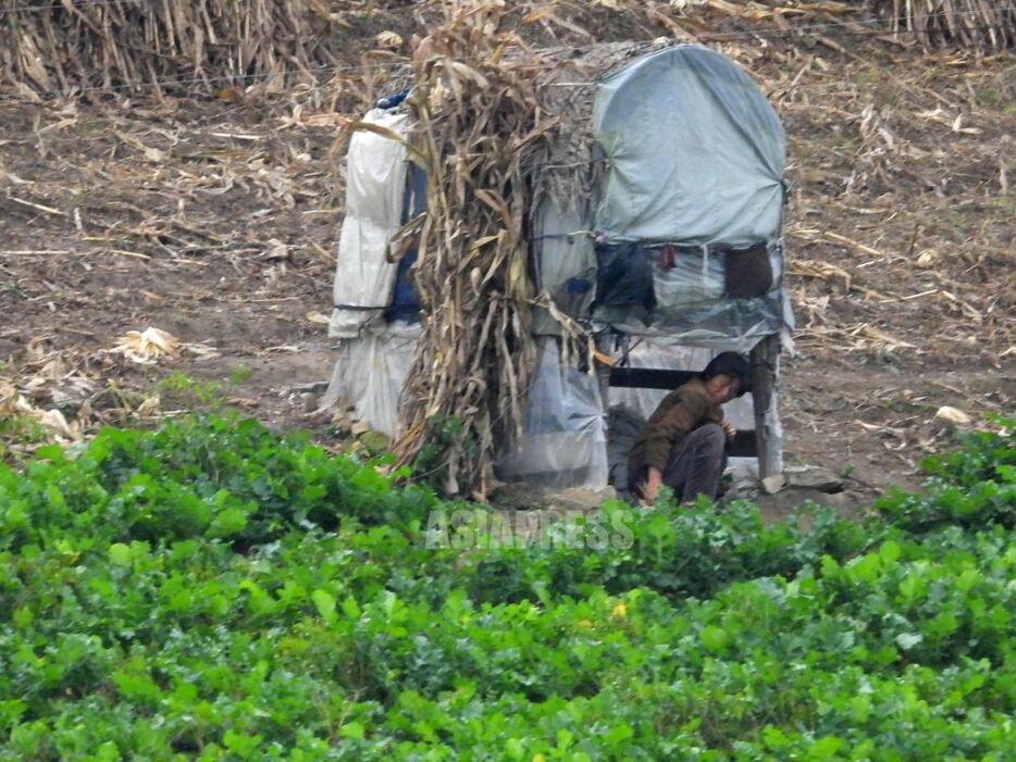
<path id="1" fill-rule="evenodd" d="M 873 0 L 873 8 L 893 32 L 909 30 L 929 47 L 1016 47 L 1016 0 Z"/>

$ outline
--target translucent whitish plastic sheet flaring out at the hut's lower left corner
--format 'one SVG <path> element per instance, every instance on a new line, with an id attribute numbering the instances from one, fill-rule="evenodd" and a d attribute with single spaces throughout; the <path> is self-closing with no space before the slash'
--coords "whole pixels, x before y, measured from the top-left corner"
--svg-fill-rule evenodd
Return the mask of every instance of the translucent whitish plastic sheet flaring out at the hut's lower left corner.
<path id="1" fill-rule="evenodd" d="M 419 323 L 392 323 L 339 342 L 332 380 L 321 400 L 352 405 L 358 420 L 389 437 L 399 433 L 399 398 L 409 375 L 422 328 Z"/>

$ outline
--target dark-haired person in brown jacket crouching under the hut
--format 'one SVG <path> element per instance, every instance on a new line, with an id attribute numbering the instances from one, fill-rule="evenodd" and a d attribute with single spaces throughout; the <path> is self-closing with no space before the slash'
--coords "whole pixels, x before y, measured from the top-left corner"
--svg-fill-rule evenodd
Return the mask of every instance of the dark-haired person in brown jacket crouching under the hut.
<path id="1" fill-rule="evenodd" d="M 635 436 L 628 460 L 628 488 L 652 504 L 660 485 L 682 502 L 716 499 L 727 466 L 727 444 L 736 430 L 720 405 L 748 391 L 748 361 L 722 352 L 671 391 Z"/>

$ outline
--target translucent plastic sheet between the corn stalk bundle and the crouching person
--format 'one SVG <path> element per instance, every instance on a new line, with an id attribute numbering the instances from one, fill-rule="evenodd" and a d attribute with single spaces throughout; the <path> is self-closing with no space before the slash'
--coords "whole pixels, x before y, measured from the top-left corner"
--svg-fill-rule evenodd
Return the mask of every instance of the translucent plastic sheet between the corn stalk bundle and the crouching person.
<path id="1" fill-rule="evenodd" d="M 541 339 L 540 365 L 525 398 L 521 439 L 503 453 L 499 478 L 545 486 L 607 485 L 607 426 L 599 379 L 562 367 L 553 338 Z"/>

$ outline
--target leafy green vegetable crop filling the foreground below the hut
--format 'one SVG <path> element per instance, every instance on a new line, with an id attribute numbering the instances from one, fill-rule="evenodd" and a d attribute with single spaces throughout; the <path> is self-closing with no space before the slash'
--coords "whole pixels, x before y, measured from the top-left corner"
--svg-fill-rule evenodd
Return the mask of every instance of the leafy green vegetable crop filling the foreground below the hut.
<path id="1" fill-rule="evenodd" d="M 992 428 L 863 521 L 665 499 L 538 538 L 253 421 L 44 448 L 0 470 L 0 758 L 1013 759 Z"/>

